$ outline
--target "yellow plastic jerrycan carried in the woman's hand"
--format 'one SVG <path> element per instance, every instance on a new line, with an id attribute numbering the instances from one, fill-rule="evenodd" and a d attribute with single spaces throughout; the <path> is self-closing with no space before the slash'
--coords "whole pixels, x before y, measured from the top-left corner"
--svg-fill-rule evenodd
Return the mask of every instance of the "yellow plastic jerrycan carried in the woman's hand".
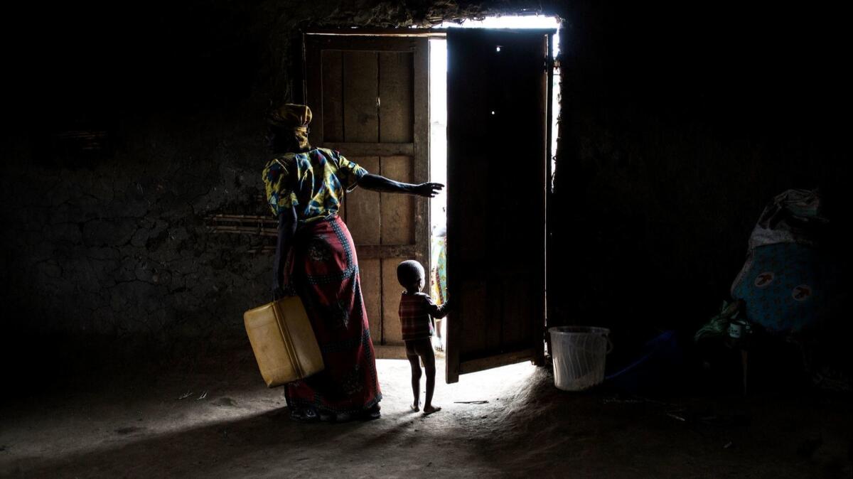
<path id="1" fill-rule="evenodd" d="M 243 322 L 267 387 L 322 371 L 320 346 L 298 296 L 249 309 L 243 314 Z"/>

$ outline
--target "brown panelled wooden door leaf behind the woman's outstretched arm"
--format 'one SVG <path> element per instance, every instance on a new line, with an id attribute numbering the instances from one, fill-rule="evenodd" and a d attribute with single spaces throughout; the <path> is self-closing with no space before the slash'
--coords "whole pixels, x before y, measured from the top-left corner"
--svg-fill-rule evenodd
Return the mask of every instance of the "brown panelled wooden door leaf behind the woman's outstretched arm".
<path id="1" fill-rule="evenodd" d="M 427 182 L 428 48 L 427 38 L 306 35 L 311 144 L 393 180 Z M 362 188 L 345 198 L 341 216 L 356 244 L 378 357 L 405 357 L 397 264 L 416 259 L 429 271 L 427 202 Z"/>

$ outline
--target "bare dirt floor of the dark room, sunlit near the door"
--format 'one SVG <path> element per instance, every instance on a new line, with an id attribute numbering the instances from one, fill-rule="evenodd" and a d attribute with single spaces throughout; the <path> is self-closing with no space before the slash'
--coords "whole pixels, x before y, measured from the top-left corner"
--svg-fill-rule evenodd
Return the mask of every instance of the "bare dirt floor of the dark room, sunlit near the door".
<path id="1" fill-rule="evenodd" d="M 519 364 L 438 379 L 410 413 L 409 365 L 378 361 L 382 418 L 299 424 L 251 353 L 227 367 L 81 380 L 0 410 L 11 477 L 850 477 L 849 398 L 646 398 L 554 388 Z M 444 365 L 442 364 L 441 367 Z M 203 369 L 200 370 L 200 369 Z M 82 384 L 82 385 L 81 385 Z M 99 384 L 94 387 L 91 384 Z M 466 402 L 487 401 L 487 402 Z"/>

